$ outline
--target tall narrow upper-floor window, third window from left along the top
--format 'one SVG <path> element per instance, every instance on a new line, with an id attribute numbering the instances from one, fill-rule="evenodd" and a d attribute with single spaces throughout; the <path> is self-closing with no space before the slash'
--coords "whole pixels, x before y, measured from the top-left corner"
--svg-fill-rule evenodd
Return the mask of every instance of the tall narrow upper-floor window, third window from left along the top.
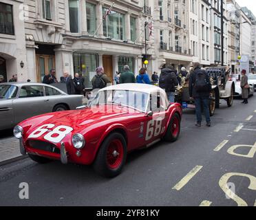
<path id="1" fill-rule="evenodd" d="M 79 32 L 79 19 L 78 19 L 78 0 L 69 0 L 70 8 L 70 32 Z"/>

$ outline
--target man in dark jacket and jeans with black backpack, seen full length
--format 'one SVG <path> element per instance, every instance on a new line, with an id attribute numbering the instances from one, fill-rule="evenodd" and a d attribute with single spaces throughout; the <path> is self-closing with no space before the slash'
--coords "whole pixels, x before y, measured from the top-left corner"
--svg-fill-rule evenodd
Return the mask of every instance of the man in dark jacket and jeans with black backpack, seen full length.
<path id="1" fill-rule="evenodd" d="M 195 113 L 197 122 L 195 126 L 201 126 L 202 111 L 201 106 L 204 108 L 204 116 L 206 118 L 206 126 L 211 126 L 210 119 L 210 91 L 211 83 L 208 74 L 204 69 L 201 69 L 200 63 L 193 63 L 194 71 L 189 78 L 189 96 L 195 100 Z"/>

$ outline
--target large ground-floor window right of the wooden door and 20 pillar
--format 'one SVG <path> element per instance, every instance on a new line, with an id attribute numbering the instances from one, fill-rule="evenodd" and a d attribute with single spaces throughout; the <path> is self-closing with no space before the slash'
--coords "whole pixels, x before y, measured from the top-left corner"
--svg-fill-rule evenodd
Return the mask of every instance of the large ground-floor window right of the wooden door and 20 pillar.
<path id="1" fill-rule="evenodd" d="M 92 87 L 92 78 L 96 74 L 98 66 L 98 56 L 96 54 L 73 54 L 74 73 L 82 74 L 85 78 L 85 87 Z"/>

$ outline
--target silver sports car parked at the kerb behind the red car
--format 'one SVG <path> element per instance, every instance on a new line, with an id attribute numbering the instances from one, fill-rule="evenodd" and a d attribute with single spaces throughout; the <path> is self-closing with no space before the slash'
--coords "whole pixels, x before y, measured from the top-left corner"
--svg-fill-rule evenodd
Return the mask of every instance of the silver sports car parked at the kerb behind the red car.
<path id="1" fill-rule="evenodd" d="M 76 109 L 83 96 L 42 83 L 0 83 L 0 130 L 10 129 L 34 115 Z"/>

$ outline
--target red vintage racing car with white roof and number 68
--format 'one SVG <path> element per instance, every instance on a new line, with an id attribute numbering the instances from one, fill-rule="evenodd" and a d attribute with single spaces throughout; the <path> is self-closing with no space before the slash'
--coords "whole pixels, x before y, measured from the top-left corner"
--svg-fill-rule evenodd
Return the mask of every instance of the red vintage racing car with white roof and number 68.
<path id="1" fill-rule="evenodd" d="M 122 84 L 100 89 L 88 107 L 38 115 L 14 128 L 21 154 L 36 162 L 94 164 L 97 173 L 118 175 L 127 152 L 180 134 L 182 107 L 153 85 Z"/>

